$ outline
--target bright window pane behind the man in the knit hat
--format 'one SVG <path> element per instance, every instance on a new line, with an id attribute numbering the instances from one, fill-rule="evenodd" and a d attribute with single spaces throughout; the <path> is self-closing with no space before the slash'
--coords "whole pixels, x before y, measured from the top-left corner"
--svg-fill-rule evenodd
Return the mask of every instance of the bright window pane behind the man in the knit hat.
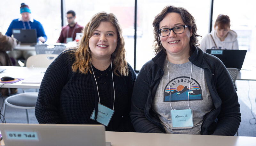
<path id="1" fill-rule="evenodd" d="M 13 19 L 21 18 L 20 4 L 25 3 L 31 10 L 31 17 L 39 21 L 47 35 L 46 43 L 55 43 L 61 31 L 60 1 L 55 0 L 11 0 L 1 1 L 0 32 L 6 33 Z"/>

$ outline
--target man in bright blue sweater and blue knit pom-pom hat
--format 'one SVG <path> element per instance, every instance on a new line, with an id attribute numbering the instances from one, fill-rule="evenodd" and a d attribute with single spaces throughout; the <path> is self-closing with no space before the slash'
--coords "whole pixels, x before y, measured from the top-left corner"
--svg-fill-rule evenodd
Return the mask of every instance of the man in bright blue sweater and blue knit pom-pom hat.
<path id="1" fill-rule="evenodd" d="M 47 36 L 45 35 L 44 28 L 39 21 L 36 21 L 31 17 L 31 11 L 28 5 L 24 3 L 21 4 L 20 14 L 21 14 L 21 18 L 12 20 L 5 35 L 12 36 L 13 28 L 36 29 L 38 40 L 40 40 L 41 42 L 45 42 L 47 40 Z M 36 51 L 14 50 L 14 51 L 8 52 L 8 54 L 10 55 L 10 57 L 13 57 L 15 59 L 23 57 L 25 60 L 27 60 L 29 56 L 36 55 Z"/>

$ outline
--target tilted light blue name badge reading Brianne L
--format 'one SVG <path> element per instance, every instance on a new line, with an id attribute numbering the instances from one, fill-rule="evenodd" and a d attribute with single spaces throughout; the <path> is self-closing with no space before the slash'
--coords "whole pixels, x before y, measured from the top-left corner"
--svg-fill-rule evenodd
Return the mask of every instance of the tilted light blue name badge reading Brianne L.
<path id="1" fill-rule="evenodd" d="M 114 114 L 114 110 L 108 108 L 107 106 L 104 105 L 100 105 L 98 103 L 98 115 L 97 115 L 97 122 L 105 125 L 108 127 L 108 124 Z M 95 120 L 95 109 L 92 112 L 91 118 L 92 120 Z"/>

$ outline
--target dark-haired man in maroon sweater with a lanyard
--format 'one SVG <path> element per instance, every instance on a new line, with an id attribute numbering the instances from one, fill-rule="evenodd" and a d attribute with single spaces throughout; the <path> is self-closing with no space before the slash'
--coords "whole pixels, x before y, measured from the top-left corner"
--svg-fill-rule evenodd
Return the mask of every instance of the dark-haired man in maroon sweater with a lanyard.
<path id="1" fill-rule="evenodd" d="M 72 10 L 67 12 L 68 25 L 63 26 L 57 43 L 68 43 L 76 39 L 76 33 L 81 33 L 83 26 L 75 21 L 76 13 Z"/>

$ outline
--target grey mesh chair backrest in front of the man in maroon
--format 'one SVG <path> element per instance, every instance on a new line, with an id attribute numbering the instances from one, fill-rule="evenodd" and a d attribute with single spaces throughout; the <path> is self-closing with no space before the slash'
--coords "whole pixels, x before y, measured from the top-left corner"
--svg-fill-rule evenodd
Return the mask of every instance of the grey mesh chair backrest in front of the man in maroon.
<path id="1" fill-rule="evenodd" d="M 64 45 L 36 45 L 36 54 L 59 54 L 66 49 Z"/>

